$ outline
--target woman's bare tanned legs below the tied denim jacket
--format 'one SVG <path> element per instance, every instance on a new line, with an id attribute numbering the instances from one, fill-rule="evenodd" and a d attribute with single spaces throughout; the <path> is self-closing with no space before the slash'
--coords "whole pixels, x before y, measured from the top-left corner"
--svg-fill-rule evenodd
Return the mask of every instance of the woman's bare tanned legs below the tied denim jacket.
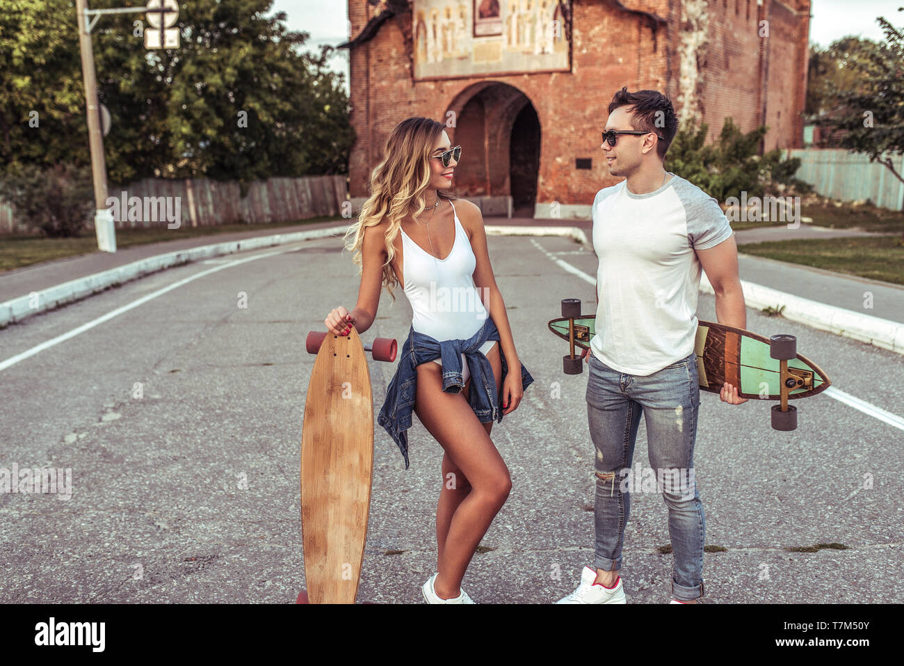
<path id="1" fill-rule="evenodd" d="M 491 366 L 494 366 L 492 356 L 496 357 L 496 364 L 501 365 L 497 348 L 487 355 Z M 451 598 L 460 594 L 467 565 L 508 497 L 512 481 L 488 429 L 477 421 L 464 392 L 443 392 L 441 371 L 441 367 L 431 362 L 418 366 L 415 414 L 446 452 L 441 506 L 437 511 L 439 557 L 434 589 L 440 597 Z M 496 375 L 497 386 L 499 375 L 501 369 Z M 455 474 L 455 492 L 447 490 L 446 473 Z M 461 480 L 466 481 L 467 492 Z M 451 518 L 448 518 L 449 513 Z M 440 538 L 442 543 L 439 543 Z"/>

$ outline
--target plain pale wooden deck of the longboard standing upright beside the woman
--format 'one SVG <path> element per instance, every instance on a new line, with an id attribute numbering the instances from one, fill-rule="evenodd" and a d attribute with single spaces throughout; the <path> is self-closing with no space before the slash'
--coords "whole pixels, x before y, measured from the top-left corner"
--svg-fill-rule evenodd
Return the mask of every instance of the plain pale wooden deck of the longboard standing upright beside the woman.
<path id="1" fill-rule="evenodd" d="M 353 604 L 373 473 L 371 373 L 354 327 L 324 338 L 307 385 L 301 523 L 307 599 Z"/>

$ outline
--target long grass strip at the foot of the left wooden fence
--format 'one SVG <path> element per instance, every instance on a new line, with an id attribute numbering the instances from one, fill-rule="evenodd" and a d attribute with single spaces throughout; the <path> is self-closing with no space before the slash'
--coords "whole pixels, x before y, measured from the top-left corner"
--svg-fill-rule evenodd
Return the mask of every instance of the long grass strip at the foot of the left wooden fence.
<path id="1" fill-rule="evenodd" d="M 222 224 L 217 226 L 181 227 L 179 229 L 167 229 L 165 226 L 118 229 L 116 244 L 119 250 L 134 245 L 178 241 L 197 236 L 216 236 L 221 233 L 269 230 L 273 230 L 273 233 L 278 233 L 278 229 L 287 226 L 340 220 L 351 224 L 351 220 L 344 217 L 320 215 L 306 220 L 273 222 L 269 224 Z M 14 268 L 22 268 L 33 263 L 51 262 L 56 259 L 89 254 L 90 252 L 99 252 L 98 239 L 94 230 L 83 231 L 72 238 L 42 238 L 41 236 L 24 234 L 0 235 L 0 271 L 11 271 Z"/>

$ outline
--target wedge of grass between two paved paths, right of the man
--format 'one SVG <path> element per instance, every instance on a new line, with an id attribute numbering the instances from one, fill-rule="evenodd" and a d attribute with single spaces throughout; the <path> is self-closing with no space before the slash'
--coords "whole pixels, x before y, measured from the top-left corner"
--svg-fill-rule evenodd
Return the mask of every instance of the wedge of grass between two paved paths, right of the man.
<path id="1" fill-rule="evenodd" d="M 738 250 L 779 262 L 904 284 L 904 242 L 896 236 L 743 243 Z"/>

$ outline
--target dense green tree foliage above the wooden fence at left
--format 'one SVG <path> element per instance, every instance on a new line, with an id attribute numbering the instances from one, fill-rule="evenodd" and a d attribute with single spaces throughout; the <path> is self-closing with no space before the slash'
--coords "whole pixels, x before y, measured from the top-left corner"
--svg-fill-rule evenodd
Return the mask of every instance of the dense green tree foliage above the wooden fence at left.
<path id="1" fill-rule="evenodd" d="M 93 8 L 144 5 L 92 0 Z M 92 31 L 100 101 L 113 124 L 108 178 L 344 173 L 353 143 L 329 47 L 303 52 L 272 0 L 180 4 L 182 47 L 146 51 L 143 14 L 102 16 Z M 136 24 L 137 21 L 142 24 Z M 0 0 L 0 160 L 89 164 L 73 0 Z M 38 112 L 39 127 L 29 127 Z M 247 121 L 246 121 L 247 119 Z M 247 125 L 247 126 L 246 126 Z"/>

